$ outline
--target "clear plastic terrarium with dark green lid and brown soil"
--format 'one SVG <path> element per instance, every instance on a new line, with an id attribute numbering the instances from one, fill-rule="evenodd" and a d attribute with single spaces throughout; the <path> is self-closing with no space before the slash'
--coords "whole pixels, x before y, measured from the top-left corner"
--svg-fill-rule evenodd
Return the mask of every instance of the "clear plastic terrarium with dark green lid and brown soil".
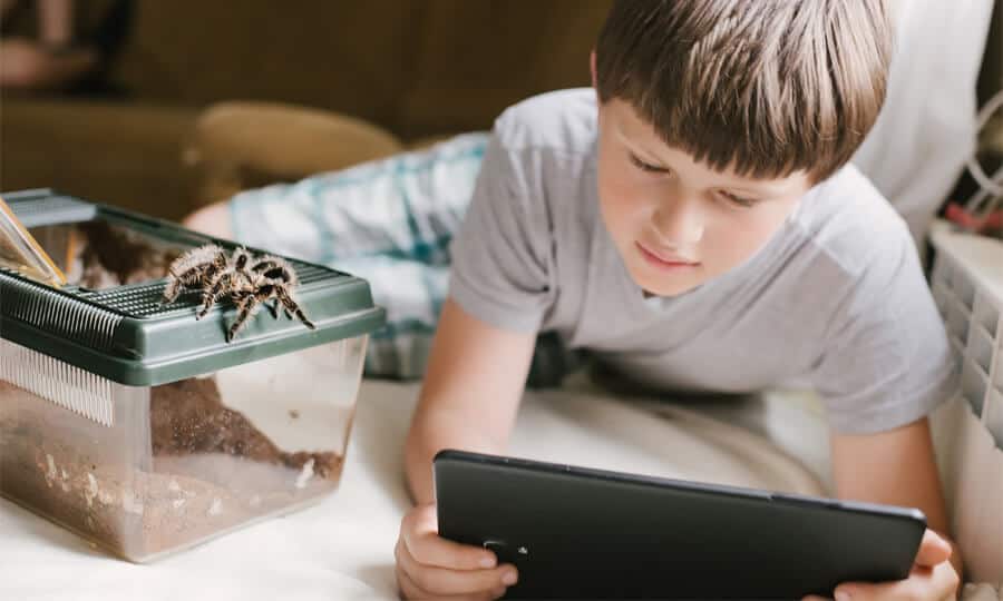
<path id="1" fill-rule="evenodd" d="M 265 303 L 227 342 L 226 298 L 195 319 L 201 292 L 162 297 L 175 258 L 233 245 L 48 191 L 4 196 L 68 282 L 0 266 L 4 497 L 145 562 L 335 491 L 384 318 L 364 280 L 290 260 L 314 328 Z"/>

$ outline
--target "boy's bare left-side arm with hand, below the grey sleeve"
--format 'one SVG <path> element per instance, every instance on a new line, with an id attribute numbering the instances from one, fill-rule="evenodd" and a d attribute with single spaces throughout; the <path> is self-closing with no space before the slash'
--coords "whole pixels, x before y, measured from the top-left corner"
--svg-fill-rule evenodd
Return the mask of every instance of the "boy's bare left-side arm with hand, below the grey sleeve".
<path id="1" fill-rule="evenodd" d="M 494 553 L 439 538 L 431 466 L 441 449 L 505 447 L 535 339 L 491 327 L 451 299 L 442 307 L 405 451 L 418 505 L 401 521 L 395 549 L 397 582 L 407 599 L 496 599 L 518 578 L 514 566 L 498 565 Z"/>

